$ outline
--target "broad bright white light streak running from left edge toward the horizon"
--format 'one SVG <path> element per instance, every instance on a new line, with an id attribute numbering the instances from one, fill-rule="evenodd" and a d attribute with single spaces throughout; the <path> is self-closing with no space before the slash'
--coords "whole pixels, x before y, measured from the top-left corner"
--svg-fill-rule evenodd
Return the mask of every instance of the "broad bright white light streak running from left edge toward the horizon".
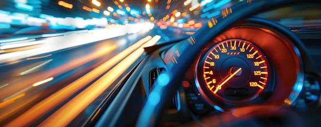
<path id="1" fill-rule="evenodd" d="M 99 22 L 100 20 L 97 19 L 97 21 Z M 107 19 L 102 18 L 101 21 L 107 22 Z M 146 24 L 135 24 L 135 25 L 144 26 Z M 135 28 L 138 28 L 135 31 L 144 30 L 144 27 L 135 27 Z M 69 47 L 74 47 L 78 45 L 88 44 L 96 41 L 101 41 L 101 40 L 105 40 L 113 37 L 122 36 L 122 35 L 125 35 L 127 33 L 127 30 L 130 30 L 130 29 L 132 29 L 131 26 L 117 26 L 111 29 L 97 29 L 97 30 L 90 30 L 88 32 L 87 30 L 85 30 L 84 31 L 85 33 L 83 34 L 66 33 L 64 34 L 64 36 L 55 36 L 55 37 L 45 38 L 42 40 L 36 40 L 34 41 L 34 43 L 40 43 L 42 45 L 36 45 L 37 47 L 24 47 L 23 50 L 19 49 L 21 50 L 19 52 L 0 54 L 0 63 L 17 61 L 19 59 L 28 58 L 31 56 L 54 52 L 56 50 L 61 50 Z M 28 38 L 23 38 L 23 39 L 28 39 Z M 13 40 L 21 40 L 21 38 L 18 38 L 18 39 L 15 38 Z M 9 40 L 5 40 L 4 42 L 13 41 L 13 40 L 9 39 Z M 66 40 L 68 41 L 68 43 L 65 43 L 66 41 L 62 41 L 62 40 Z M 3 40 L 0 40 L 0 41 L 3 41 Z"/>

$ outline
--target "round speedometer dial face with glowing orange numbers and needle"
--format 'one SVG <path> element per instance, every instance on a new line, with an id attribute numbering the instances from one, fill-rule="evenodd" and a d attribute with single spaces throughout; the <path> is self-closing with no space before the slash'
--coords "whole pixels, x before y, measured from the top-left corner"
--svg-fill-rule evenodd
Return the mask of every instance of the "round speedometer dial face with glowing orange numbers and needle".
<path id="1" fill-rule="evenodd" d="M 269 62 L 253 43 L 230 39 L 217 43 L 199 59 L 199 88 L 211 98 L 242 102 L 255 98 L 270 80 Z"/>

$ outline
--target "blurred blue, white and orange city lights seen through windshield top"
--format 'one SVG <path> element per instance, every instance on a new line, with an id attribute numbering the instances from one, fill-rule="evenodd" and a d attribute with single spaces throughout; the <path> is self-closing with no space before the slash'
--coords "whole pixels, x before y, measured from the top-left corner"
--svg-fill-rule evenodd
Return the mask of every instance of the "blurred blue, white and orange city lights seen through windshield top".
<path id="1" fill-rule="evenodd" d="M 155 26 L 162 31 L 161 36 L 165 40 L 177 39 L 193 34 L 208 19 L 219 15 L 220 10 L 237 2 L 6 0 L 0 5 L 0 38 L 31 35 L 49 37 L 69 31 L 87 32 L 82 30 L 115 29 L 130 24 L 151 23 L 145 29 Z M 127 33 L 143 28 L 130 29 L 127 29 Z M 119 36 L 122 34 L 118 33 Z"/>

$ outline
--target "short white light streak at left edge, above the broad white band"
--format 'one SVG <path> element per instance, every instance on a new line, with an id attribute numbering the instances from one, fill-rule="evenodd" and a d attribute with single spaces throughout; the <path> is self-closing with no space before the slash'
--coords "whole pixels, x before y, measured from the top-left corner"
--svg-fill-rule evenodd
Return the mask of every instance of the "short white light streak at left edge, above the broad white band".
<path id="1" fill-rule="evenodd" d="M 24 47 L 24 46 L 30 46 L 35 44 L 41 44 L 41 42 L 35 42 L 36 39 L 28 39 L 28 40 L 21 40 L 16 41 L 14 43 L 5 43 L 1 44 L 0 49 L 8 49 L 8 48 L 17 48 L 17 47 Z"/>

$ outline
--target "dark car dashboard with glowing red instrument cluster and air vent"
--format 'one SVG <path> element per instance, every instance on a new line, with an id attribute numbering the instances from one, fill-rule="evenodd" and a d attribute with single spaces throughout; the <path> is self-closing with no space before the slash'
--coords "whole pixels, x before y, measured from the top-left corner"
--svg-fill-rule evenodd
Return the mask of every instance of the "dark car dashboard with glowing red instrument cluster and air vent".
<path id="1" fill-rule="evenodd" d="M 223 18 L 229 13 L 232 9 Z M 129 78 L 135 85 L 119 91 L 122 100 L 116 98 L 97 125 L 235 126 L 233 120 L 255 123 L 258 116 L 293 114 L 297 122 L 269 119 L 255 125 L 316 125 L 318 120 L 307 122 L 306 114 L 318 111 L 320 104 L 320 29 L 287 27 L 256 15 L 211 35 L 218 23 L 212 18 L 187 39 L 146 47 L 153 52 Z M 204 43 L 198 52 L 185 54 L 198 43 Z M 167 72 L 173 68 L 175 75 Z M 120 111 L 119 104 L 124 104 Z M 118 117 L 108 115 L 112 113 Z"/>

